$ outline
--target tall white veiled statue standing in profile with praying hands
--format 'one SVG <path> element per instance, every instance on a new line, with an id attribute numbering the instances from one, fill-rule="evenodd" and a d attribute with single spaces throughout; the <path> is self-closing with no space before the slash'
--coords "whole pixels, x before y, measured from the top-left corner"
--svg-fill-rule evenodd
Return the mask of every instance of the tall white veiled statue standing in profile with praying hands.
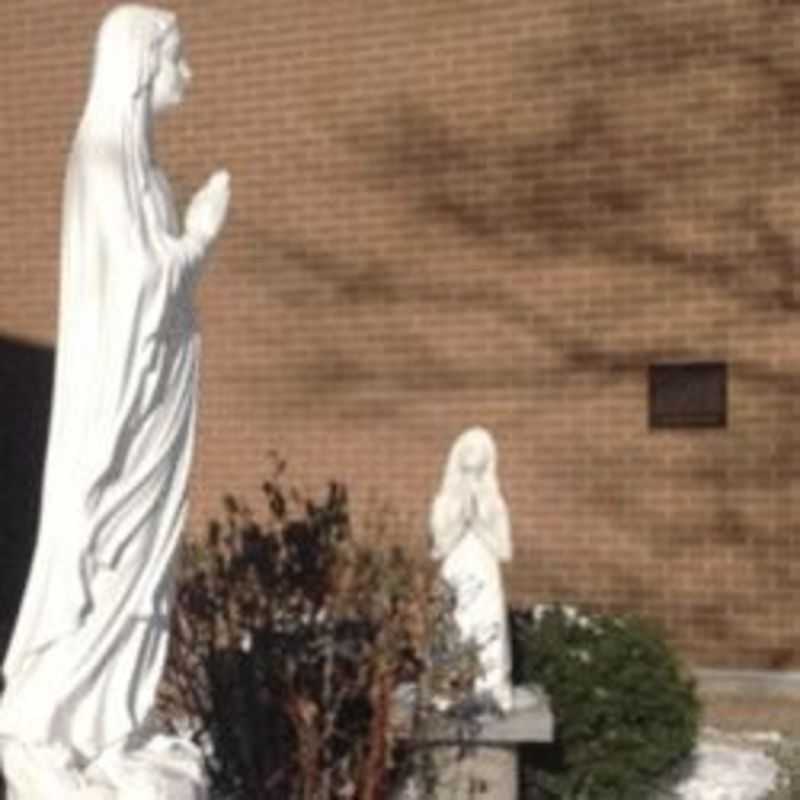
<path id="1" fill-rule="evenodd" d="M 83 797 L 101 773 L 114 785 L 97 765 L 124 762 L 165 662 L 195 428 L 192 290 L 230 196 L 215 173 L 181 224 L 153 160 L 153 114 L 189 77 L 172 13 L 105 18 L 67 165 L 38 540 L 3 664 L 0 758 L 20 800 Z"/>

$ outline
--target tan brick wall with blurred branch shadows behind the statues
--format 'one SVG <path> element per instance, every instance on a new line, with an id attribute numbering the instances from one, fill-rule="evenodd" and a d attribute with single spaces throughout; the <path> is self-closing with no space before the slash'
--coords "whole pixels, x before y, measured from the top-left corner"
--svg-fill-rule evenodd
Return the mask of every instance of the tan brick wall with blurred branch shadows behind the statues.
<path id="1" fill-rule="evenodd" d="M 51 343 L 99 0 L 0 8 L 0 335 Z M 199 307 L 194 529 L 310 490 L 408 546 L 498 439 L 516 601 L 637 609 L 697 664 L 800 667 L 800 8 L 176 0 L 178 194 L 234 201 Z M 725 360 L 724 430 L 651 432 L 647 365 Z M 14 391 L 13 386 L 2 391 Z M 794 496 L 793 496 L 794 490 Z"/>

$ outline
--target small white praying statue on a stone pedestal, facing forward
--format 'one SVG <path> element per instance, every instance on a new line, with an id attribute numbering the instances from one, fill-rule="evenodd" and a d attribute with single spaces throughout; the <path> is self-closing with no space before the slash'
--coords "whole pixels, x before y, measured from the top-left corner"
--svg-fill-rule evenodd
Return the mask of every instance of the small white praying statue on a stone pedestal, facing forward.
<path id="1" fill-rule="evenodd" d="M 478 647 L 478 696 L 512 707 L 511 652 L 500 561 L 511 560 L 508 510 L 497 483 L 497 450 L 484 428 L 458 437 L 433 503 L 432 556 L 456 598 L 456 623 Z"/>

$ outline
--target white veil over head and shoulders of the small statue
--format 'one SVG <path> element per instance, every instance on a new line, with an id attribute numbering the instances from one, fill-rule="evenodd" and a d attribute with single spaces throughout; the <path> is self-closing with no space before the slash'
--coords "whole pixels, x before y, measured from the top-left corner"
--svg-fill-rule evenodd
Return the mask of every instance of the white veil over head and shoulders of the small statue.
<path id="1" fill-rule="evenodd" d="M 474 498 L 479 523 L 475 532 L 498 560 L 508 561 L 511 559 L 511 531 L 497 478 L 497 446 L 491 433 L 481 427 L 464 431 L 450 448 L 441 488 L 431 509 L 432 555 L 446 557 L 463 535 L 459 519 L 473 493 L 462 467 L 467 453 L 482 466 Z"/>

